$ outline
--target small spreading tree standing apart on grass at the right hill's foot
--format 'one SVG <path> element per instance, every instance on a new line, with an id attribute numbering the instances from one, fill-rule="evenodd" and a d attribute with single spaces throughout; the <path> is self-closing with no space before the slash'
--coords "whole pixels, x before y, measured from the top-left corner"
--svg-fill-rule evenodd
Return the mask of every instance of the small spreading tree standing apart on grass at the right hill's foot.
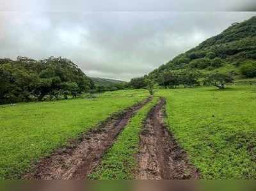
<path id="1" fill-rule="evenodd" d="M 233 77 L 232 75 L 227 75 L 223 73 L 212 73 L 208 75 L 205 80 L 205 85 L 215 86 L 219 89 L 224 89 L 226 83 L 232 83 Z"/>

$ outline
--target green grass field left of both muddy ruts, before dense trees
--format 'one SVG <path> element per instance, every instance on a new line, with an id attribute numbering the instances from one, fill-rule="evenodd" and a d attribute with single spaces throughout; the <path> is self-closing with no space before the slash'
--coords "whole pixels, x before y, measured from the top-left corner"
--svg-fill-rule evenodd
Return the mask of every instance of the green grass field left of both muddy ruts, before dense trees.
<path id="1" fill-rule="evenodd" d="M 147 96 L 145 90 L 115 91 L 93 99 L 1 105 L 0 179 L 19 178 L 31 162 Z"/>

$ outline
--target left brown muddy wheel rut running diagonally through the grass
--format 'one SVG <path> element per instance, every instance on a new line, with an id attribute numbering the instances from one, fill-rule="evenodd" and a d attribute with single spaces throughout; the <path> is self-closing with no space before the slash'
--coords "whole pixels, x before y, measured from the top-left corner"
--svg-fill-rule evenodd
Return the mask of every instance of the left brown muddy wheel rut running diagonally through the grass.
<path id="1" fill-rule="evenodd" d="M 106 120 L 97 128 L 70 141 L 69 146 L 60 148 L 50 157 L 35 164 L 31 172 L 22 176 L 28 180 L 82 180 L 99 164 L 105 151 L 112 146 L 115 137 L 122 131 L 129 119 L 138 109 L 152 98 Z"/>

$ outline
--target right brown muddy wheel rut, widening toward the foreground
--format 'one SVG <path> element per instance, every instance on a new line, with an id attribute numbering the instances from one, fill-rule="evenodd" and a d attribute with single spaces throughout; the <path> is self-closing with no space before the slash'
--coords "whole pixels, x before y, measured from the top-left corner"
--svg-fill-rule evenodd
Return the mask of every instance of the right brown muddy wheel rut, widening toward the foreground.
<path id="1" fill-rule="evenodd" d="M 135 178 L 138 180 L 197 179 L 199 172 L 164 126 L 161 101 L 150 111 L 140 135 L 140 152 Z"/>

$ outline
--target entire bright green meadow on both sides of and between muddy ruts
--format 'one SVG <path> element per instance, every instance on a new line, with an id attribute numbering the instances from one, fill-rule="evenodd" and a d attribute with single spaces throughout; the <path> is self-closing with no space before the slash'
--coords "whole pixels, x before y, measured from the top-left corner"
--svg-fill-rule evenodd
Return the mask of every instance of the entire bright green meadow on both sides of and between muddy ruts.
<path id="1" fill-rule="evenodd" d="M 141 102 L 146 90 L 93 98 L 0 106 L 0 179 L 19 178 L 31 163 L 65 146 L 116 112 Z M 131 118 L 90 179 L 131 179 L 141 126 L 160 97 L 165 122 L 203 179 L 256 178 L 256 87 L 155 89 Z"/>

